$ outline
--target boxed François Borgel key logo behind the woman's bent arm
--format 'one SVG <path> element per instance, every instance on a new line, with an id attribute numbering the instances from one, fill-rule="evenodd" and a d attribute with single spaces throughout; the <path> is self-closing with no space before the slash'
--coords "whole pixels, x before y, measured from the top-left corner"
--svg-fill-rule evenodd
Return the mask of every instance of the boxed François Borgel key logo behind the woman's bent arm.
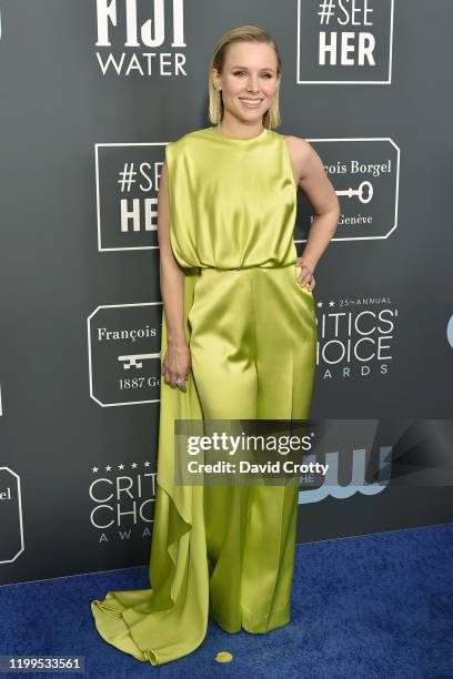
<path id="1" fill-rule="evenodd" d="M 397 225 L 400 149 L 391 139 L 308 140 L 322 158 L 339 196 L 341 214 L 333 241 L 386 239 Z M 300 196 L 294 240 L 305 239 L 314 220 Z"/>

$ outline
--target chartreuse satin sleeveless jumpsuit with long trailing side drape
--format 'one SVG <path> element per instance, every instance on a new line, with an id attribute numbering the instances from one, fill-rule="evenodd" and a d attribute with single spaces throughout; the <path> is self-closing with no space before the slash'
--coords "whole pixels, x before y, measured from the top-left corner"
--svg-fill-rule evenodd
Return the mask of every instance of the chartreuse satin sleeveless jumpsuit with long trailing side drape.
<path id="1" fill-rule="evenodd" d="M 161 379 L 150 588 L 91 602 L 99 634 L 162 665 L 208 619 L 260 634 L 291 619 L 298 479 L 174 483 L 174 419 L 304 419 L 315 372 L 313 294 L 296 281 L 296 186 L 283 138 L 197 130 L 167 144 L 170 239 L 184 272 L 187 392 Z M 162 313 L 161 358 L 168 327 Z"/>

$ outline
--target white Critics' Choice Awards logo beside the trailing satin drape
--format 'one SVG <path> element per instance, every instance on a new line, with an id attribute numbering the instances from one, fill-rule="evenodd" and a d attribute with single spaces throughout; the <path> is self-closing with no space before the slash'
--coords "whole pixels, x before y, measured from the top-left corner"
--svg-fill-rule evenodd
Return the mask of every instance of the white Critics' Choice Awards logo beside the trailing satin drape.
<path id="1" fill-rule="evenodd" d="M 107 464 L 91 468 L 89 497 L 90 524 L 99 531 L 99 541 L 112 537 L 129 540 L 137 531 L 150 537 L 154 518 L 157 473 L 151 463 Z"/>

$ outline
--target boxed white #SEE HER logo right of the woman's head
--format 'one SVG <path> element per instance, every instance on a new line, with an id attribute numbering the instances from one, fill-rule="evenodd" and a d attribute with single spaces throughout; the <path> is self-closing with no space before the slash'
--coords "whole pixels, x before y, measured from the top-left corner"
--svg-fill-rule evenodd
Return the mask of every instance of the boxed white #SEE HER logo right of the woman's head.
<path id="1" fill-rule="evenodd" d="M 393 0 L 299 0 L 298 83 L 389 84 Z"/>

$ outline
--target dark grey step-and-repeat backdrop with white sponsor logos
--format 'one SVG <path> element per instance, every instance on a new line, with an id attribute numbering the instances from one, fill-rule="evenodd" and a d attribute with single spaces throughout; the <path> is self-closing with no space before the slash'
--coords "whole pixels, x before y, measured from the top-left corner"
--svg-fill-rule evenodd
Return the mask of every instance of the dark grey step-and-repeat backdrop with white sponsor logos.
<path id="1" fill-rule="evenodd" d="M 276 131 L 342 209 L 314 290 L 329 476 L 298 539 L 452 520 L 452 22 L 450 0 L 0 0 L 0 584 L 148 564 L 164 146 L 211 124 L 212 52 L 246 23 L 281 49 Z M 312 219 L 300 192 L 299 254 Z"/>

